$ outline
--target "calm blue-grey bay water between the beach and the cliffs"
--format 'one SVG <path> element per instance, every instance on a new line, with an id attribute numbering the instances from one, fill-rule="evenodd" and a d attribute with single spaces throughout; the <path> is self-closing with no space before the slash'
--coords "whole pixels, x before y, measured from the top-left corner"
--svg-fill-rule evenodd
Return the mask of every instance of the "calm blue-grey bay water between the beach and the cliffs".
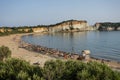
<path id="1" fill-rule="evenodd" d="M 23 36 L 22 39 L 35 45 L 78 54 L 89 49 L 92 57 L 120 61 L 120 31 L 48 33 Z"/>

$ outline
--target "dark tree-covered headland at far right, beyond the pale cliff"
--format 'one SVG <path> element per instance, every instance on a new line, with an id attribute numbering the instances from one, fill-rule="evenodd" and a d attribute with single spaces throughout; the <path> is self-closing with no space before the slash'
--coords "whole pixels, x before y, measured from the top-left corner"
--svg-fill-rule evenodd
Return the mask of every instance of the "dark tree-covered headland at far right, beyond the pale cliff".
<path id="1" fill-rule="evenodd" d="M 94 27 L 97 30 L 120 30 L 120 23 L 111 23 L 111 22 L 104 22 L 104 23 L 96 23 Z"/>

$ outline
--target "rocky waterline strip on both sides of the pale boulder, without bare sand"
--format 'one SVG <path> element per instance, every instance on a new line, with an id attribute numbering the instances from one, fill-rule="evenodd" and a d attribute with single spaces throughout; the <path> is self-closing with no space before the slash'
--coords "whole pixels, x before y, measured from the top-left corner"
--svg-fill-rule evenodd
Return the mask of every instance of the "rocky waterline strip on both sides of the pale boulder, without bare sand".
<path id="1" fill-rule="evenodd" d="M 19 43 L 19 47 L 24 48 L 28 51 L 33 51 L 33 52 L 41 53 L 43 55 L 48 55 L 56 59 L 65 59 L 65 60 L 72 59 L 72 60 L 84 61 L 84 57 L 82 56 L 82 54 L 69 53 L 69 52 L 64 52 L 64 51 L 60 51 L 60 50 L 53 49 L 53 48 L 47 48 L 47 47 L 40 46 L 40 45 L 34 45 L 34 44 L 24 42 L 22 40 Z M 99 63 L 104 63 L 110 66 L 113 70 L 120 71 L 120 62 L 105 60 L 105 59 L 98 59 L 94 57 L 91 57 L 89 62 L 90 61 L 97 61 Z"/>

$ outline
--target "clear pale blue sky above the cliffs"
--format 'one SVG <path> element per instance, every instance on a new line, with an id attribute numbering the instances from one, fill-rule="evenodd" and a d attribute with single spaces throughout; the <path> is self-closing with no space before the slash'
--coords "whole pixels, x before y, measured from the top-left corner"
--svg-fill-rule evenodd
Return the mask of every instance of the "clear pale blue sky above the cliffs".
<path id="1" fill-rule="evenodd" d="M 120 22 L 120 0 L 0 0 L 0 26 L 49 25 L 66 20 Z"/>

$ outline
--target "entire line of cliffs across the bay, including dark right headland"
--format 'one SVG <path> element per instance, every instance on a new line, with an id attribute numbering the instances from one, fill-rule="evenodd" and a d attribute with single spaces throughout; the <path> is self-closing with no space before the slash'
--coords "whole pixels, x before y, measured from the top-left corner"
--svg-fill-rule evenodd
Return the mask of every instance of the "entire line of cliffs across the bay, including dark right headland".
<path id="1" fill-rule="evenodd" d="M 38 25 L 23 27 L 0 27 L 0 34 L 29 33 L 29 32 L 74 32 L 87 30 L 120 30 L 119 23 L 96 23 L 94 26 L 88 26 L 84 20 L 67 20 L 54 25 Z"/>

